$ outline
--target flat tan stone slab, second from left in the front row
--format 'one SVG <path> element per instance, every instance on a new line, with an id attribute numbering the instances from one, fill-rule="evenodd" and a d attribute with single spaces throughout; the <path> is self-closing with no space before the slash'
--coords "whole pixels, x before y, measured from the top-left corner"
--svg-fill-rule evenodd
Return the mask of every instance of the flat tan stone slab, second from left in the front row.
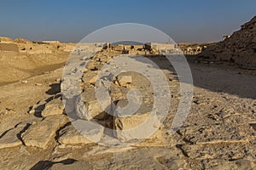
<path id="1" fill-rule="evenodd" d="M 68 122 L 67 116 L 47 116 L 41 122 L 32 124 L 21 137 L 27 146 L 35 146 L 45 149 L 50 139 L 53 139 L 55 132 Z"/>

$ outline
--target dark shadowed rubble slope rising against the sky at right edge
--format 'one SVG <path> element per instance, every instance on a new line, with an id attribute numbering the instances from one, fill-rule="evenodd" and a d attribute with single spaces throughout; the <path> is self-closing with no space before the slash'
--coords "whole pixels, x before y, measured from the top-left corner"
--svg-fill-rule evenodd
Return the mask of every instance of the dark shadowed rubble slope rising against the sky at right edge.
<path id="1" fill-rule="evenodd" d="M 256 69 L 256 16 L 229 38 L 206 48 L 199 59 L 230 61 L 243 68 Z"/>

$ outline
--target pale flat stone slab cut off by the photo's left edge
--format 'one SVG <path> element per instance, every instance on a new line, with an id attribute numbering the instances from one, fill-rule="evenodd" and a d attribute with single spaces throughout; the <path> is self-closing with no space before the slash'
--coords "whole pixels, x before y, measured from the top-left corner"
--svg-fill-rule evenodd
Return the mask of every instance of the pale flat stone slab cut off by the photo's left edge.
<path id="1" fill-rule="evenodd" d="M 18 139 L 18 134 L 24 129 L 24 127 L 25 125 L 18 126 L 5 133 L 0 139 L 0 149 L 21 145 L 22 142 Z"/>

